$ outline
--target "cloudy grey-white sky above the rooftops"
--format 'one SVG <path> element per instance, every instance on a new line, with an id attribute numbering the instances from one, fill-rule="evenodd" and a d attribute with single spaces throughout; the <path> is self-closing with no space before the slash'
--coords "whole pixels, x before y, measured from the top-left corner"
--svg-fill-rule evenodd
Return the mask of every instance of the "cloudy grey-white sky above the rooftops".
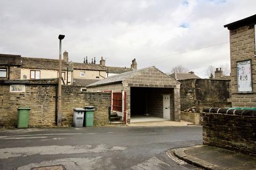
<path id="1" fill-rule="evenodd" d="M 207 77 L 207 67 L 230 63 L 223 25 L 255 14 L 251 0 L 0 0 L 0 53 L 108 66 L 177 65 Z"/>

